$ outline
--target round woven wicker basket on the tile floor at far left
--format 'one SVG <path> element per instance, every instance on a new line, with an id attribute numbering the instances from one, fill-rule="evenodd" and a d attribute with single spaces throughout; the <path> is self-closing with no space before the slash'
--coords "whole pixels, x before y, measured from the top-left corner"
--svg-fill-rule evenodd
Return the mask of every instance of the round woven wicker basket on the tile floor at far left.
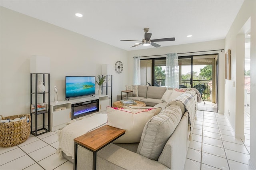
<path id="1" fill-rule="evenodd" d="M 2 117 L 2 115 L 0 115 Z M 2 120 L 26 117 L 16 122 L 0 123 L 0 146 L 11 147 L 21 144 L 30 135 L 30 115 L 2 117 Z"/>

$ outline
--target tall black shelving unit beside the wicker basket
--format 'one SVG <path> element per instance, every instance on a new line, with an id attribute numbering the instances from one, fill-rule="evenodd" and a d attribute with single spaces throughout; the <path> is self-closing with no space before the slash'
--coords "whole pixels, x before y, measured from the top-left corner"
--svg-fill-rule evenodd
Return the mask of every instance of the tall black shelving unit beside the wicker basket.
<path id="1" fill-rule="evenodd" d="M 45 80 L 48 79 L 48 91 L 45 91 L 44 93 L 38 93 L 38 91 L 37 91 L 38 75 L 42 75 L 43 82 L 45 82 Z M 32 91 L 33 85 L 34 85 L 34 92 Z M 34 99 L 33 99 L 33 97 L 34 97 Z M 40 97 L 42 99 L 42 103 L 48 104 L 48 107 L 46 107 L 45 111 L 37 111 L 38 98 L 40 98 Z M 31 116 L 31 131 L 30 131 L 30 133 L 33 134 L 34 136 L 38 136 L 40 134 L 50 132 L 50 109 L 49 109 L 49 106 L 50 106 L 50 74 L 48 74 L 48 73 L 30 73 L 30 105 L 32 105 L 32 104 L 35 105 L 35 112 L 30 112 L 30 116 Z M 48 115 L 47 125 L 45 125 L 46 114 Z M 40 129 L 38 129 L 38 115 L 43 115 L 43 127 Z M 35 117 L 35 130 L 32 130 L 33 116 Z M 44 130 L 44 131 L 38 133 L 39 130 Z"/>

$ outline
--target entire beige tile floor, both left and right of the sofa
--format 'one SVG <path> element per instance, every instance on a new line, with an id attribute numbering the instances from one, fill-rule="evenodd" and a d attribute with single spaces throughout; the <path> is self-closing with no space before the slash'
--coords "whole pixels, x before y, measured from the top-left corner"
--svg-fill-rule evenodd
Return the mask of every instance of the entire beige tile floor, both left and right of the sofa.
<path id="1" fill-rule="evenodd" d="M 184 169 L 250 169 L 248 115 L 245 116 L 244 141 L 234 137 L 224 115 L 198 111 L 197 117 Z M 30 135 L 28 140 L 14 147 L 0 147 L 0 170 L 72 170 L 71 162 L 55 154 L 57 138 L 56 132 L 48 132 Z"/>

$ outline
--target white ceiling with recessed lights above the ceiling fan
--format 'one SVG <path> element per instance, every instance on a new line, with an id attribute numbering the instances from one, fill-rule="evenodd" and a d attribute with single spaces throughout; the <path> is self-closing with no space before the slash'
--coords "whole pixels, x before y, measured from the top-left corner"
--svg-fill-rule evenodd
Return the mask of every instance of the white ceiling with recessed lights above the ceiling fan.
<path id="1" fill-rule="evenodd" d="M 151 39 L 162 46 L 222 40 L 244 0 L 0 0 L 0 6 L 77 32 L 125 50 L 145 48 L 135 42 Z M 82 18 L 75 13 L 83 14 Z M 187 38 L 187 35 L 193 35 Z"/>

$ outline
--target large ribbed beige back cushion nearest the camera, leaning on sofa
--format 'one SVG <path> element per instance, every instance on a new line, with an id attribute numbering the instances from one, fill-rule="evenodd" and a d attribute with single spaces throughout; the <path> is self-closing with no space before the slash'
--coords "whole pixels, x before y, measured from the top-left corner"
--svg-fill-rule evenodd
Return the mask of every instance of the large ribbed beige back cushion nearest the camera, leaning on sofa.
<path id="1" fill-rule="evenodd" d="M 137 153 L 146 158 L 158 160 L 164 145 L 174 132 L 181 117 L 178 105 L 171 105 L 152 117 L 143 129 Z"/>

